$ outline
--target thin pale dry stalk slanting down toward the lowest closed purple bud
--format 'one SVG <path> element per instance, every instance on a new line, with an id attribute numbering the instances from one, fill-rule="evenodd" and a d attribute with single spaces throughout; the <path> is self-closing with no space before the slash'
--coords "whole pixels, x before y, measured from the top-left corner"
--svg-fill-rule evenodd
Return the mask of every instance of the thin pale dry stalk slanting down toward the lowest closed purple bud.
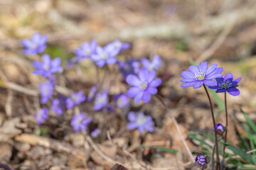
<path id="1" fill-rule="evenodd" d="M 163 104 L 163 106 L 167 109 L 167 111 L 169 110 L 168 106 L 166 106 L 166 103 L 164 103 L 163 99 L 161 98 L 161 96 L 159 96 L 158 94 L 156 94 L 156 98 Z M 183 145 L 185 146 L 187 152 L 188 152 L 188 155 L 189 157 L 191 158 L 191 162 L 194 162 L 195 159 L 193 158 L 193 155 L 191 153 L 191 150 L 189 149 L 188 147 L 188 144 L 186 143 L 186 140 L 184 139 L 183 135 L 182 135 L 182 132 L 181 132 L 181 128 L 179 128 L 178 126 L 178 123 L 177 123 L 177 120 L 176 118 L 174 118 L 174 115 L 170 114 L 171 115 L 171 120 L 174 122 L 174 125 L 176 127 L 176 129 L 178 130 L 178 135 L 181 137 L 181 140 L 183 142 Z"/>

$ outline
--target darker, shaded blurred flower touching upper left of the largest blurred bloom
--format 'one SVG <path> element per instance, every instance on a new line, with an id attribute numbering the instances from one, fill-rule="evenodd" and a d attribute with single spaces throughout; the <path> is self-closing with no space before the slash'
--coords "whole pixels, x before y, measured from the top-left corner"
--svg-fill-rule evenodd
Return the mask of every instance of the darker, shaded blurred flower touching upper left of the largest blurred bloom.
<path id="1" fill-rule="evenodd" d="M 124 79 L 127 78 L 129 74 L 139 73 L 139 60 L 128 60 L 127 62 L 117 62 L 119 68 L 121 69 Z"/>

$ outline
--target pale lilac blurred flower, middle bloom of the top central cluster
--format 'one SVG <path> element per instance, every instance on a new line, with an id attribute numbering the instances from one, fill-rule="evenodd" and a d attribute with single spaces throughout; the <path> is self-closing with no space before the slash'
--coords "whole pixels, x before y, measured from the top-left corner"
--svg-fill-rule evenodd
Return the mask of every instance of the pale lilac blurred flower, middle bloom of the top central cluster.
<path id="1" fill-rule="evenodd" d="M 97 64 L 99 67 L 103 67 L 105 64 L 114 64 L 117 62 L 118 51 L 110 45 L 106 45 L 105 47 L 97 46 L 96 54 L 91 55 L 91 59 Z"/>

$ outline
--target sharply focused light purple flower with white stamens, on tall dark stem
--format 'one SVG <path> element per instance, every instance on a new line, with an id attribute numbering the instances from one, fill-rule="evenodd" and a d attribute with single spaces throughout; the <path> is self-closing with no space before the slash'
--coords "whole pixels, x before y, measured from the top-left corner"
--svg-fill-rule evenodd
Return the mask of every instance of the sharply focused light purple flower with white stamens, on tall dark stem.
<path id="1" fill-rule="evenodd" d="M 184 84 L 181 84 L 181 87 L 193 86 L 193 89 L 198 89 L 203 84 L 206 86 L 217 86 L 216 82 L 213 81 L 215 78 L 223 77 L 221 72 L 223 68 L 218 67 L 218 64 L 211 64 L 208 67 L 207 62 L 201 62 L 198 67 L 196 65 L 191 65 L 188 67 L 190 71 L 181 72 L 180 81 Z"/>

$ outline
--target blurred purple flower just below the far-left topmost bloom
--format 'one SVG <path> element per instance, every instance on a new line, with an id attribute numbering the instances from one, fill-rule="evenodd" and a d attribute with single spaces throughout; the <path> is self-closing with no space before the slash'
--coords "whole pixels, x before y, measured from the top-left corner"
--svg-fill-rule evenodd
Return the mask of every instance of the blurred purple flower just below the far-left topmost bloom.
<path id="1" fill-rule="evenodd" d="M 61 60 L 59 57 L 50 61 L 49 55 L 43 55 L 43 62 L 33 61 L 33 67 L 36 67 L 33 74 L 42 75 L 43 77 L 50 77 L 51 74 L 60 72 L 62 70 L 60 62 Z"/>

